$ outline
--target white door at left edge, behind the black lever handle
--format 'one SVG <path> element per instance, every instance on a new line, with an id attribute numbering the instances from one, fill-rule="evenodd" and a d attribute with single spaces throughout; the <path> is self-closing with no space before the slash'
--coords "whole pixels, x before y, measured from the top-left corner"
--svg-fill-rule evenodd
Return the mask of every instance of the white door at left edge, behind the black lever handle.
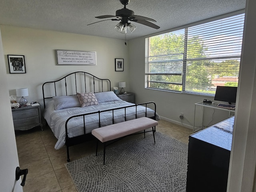
<path id="1" fill-rule="evenodd" d="M 1 37 L 1 31 L 0 31 Z M 10 107 L 5 72 L 4 52 L 0 38 L 0 186 L 1 191 L 22 192 L 21 179 L 16 181 L 15 170 L 19 166 L 12 110 Z"/>

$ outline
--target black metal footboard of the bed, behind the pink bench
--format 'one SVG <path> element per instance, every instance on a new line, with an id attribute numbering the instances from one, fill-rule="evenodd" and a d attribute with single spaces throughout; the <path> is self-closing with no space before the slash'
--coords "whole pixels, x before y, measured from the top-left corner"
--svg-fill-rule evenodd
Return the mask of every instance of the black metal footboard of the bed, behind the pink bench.
<path id="1" fill-rule="evenodd" d="M 153 105 L 154 108 L 154 115 L 148 117 L 148 118 L 152 118 L 154 120 L 156 120 L 156 104 L 154 102 L 146 102 L 146 103 L 142 103 L 142 104 L 134 104 L 134 105 L 130 105 L 130 106 L 125 106 L 125 107 L 120 107 L 120 108 L 113 108 L 113 109 L 108 109 L 108 110 L 102 110 L 102 111 L 97 111 L 97 112 L 92 112 L 92 113 L 85 113 L 85 114 L 80 114 L 80 115 L 75 115 L 75 116 L 71 116 L 70 118 L 68 118 L 66 120 L 65 123 L 65 130 L 66 130 L 66 148 L 67 148 L 67 162 L 70 162 L 70 156 L 69 156 L 69 147 L 76 145 L 76 144 L 80 144 L 89 140 L 92 140 L 94 137 L 92 136 L 91 133 L 86 133 L 86 116 L 91 115 L 91 114 L 98 114 L 98 120 L 99 120 L 99 125 L 98 127 L 101 127 L 101 114 L 103 112 L 108 112 L 108 111 L 112 111 L 112 124 L 114 124 L 114 111 L 115 110 L 119 110 L 119 109 L 124 109 L 124 120 L 126 121 L 126 109 L 127 108 L 131 108 L 131 107 L 135 107 L 135 118 L 137 118 L 137 106 L 145 106 L 145 116 L 147 116 L 147 108 L 149 105 Z M 80 136 L 75 136 L 72 138 L 68 137 L 68 122 L 73 119 L 73 118 L 77 118 L 77 117 L 82 117 L 83 118 L 83 128 L 84 128 L 84 134 L 80 135 Z"/>

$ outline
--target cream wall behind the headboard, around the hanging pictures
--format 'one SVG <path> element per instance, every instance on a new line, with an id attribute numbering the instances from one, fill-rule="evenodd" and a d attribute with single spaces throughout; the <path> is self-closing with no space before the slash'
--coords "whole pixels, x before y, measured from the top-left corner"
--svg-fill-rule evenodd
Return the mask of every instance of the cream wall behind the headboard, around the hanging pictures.
<path id="1" fill-rule="evenodd" d="M 118 86 L 119 81 L 126 81 L 126 90 L 129 91 L 128 45 L 125 46 L 123 40 L 5 25 L 0 28 L 10 95 L 16 95 L 16 88 L 26 87 L 27 100 L 42 105 L 42 84 L 75 71 L 109 78 L 112 87 Z M 56 65 L 56 49 L 96 51 L 97 65 Z M 9 74 L 8 54 L 25 56 L 26 74 Z M 124 72 L 115 71 L 115 58 L 124 58 Z"/>

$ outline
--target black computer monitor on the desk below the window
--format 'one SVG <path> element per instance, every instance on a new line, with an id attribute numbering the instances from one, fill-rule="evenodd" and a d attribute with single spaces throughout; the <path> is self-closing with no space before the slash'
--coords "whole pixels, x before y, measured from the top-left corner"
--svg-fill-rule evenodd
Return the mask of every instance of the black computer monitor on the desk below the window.
<path id="1" fill-rule="evenodd" d="M 236 91 L 237 87 L 217 86 L 214 100 L 235 103 Z"/>

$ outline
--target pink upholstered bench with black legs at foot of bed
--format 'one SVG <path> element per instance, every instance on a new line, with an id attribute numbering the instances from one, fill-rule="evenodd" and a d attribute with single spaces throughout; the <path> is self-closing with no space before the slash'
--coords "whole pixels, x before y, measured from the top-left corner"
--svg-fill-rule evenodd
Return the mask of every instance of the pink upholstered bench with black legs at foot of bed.
<path id="1" fill-rule="evenodd" d="M 124 136 L 128 136 L 142 130 L 144 130 L 144 137 L 145 137 L 145 130 L 148 128 L 152 128 L 154 143 L 156 143 L 154 127 L 157 125 L 158 125 L 158 122 L 156 120 L 153 120 L 147 117 L 142 117 L 142 118 L 124 121 L 121 123 L 112 124 L 112 125 L 108 125 L 105 127 L 92 130 L 92 135 L 94 135 L 98 139 L 97 146 L 96 146 L 96 156 L 98 151 L 99 140 L 102 143 L 104 143 L 103 164 L 105 164 L 105 152 L 106 152 L 106 146 L 107 146 L 106 142 L 115 140 L 118 138 L 122 138 Z"/>

